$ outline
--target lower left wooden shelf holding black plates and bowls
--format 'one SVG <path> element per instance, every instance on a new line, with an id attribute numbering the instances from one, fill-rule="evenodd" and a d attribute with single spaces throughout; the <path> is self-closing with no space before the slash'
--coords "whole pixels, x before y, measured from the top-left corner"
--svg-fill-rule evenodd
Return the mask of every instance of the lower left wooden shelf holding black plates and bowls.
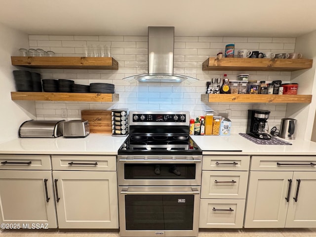
<path id="1" fill-rule="evenodd" d="M 64 93 L 64 92 L 11 92 L 12 100 L 45 100 L 45 101 L 87 101 L 114 102 L 118 94 L 105 93 Z"/>

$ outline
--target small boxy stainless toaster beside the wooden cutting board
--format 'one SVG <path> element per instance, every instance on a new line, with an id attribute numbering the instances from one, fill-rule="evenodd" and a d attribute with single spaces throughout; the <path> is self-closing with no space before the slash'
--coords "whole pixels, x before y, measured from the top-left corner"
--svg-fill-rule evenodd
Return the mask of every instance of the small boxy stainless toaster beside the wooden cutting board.
<path id="1" fill-rule="evenodd" d="M 63 136 L 66 138 L 86 137 L 89 133 L 88 120 L 70 120 L 64 122 Z"/>

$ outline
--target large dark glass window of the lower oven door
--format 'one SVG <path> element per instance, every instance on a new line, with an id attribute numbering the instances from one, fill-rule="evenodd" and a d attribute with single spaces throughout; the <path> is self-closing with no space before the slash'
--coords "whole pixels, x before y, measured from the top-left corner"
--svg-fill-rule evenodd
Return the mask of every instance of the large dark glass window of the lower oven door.
<path id="1" fill-rule="evenodd" d="M 194 195 L 126 195 L 126 230 L 193 230 Z"/>

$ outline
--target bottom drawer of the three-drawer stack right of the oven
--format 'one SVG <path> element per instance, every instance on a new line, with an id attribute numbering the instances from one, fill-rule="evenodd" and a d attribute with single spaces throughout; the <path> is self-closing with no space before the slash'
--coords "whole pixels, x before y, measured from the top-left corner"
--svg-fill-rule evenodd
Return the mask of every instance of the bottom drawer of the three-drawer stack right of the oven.
<path id="1" fill-rule="evenodd" d="M 199 228 L 242 228 L 245 199 L 201 199 Z"/>

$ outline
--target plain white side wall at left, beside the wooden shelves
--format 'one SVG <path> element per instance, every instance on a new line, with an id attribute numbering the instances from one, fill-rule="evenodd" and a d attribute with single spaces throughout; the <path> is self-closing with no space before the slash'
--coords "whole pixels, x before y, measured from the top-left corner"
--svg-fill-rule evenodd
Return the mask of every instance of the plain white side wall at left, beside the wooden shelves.
<path id="1" fill-rule="evenodd" d="M 35 103 L 15 103 L 11 100 L 10 91 L 15 91 L 11 65 L 11 56 L 17 55 L 20 47 L 28 46 L 28 36 L 0 24 L 0 142 L 18 137 L 21 123 L 35 118 Z"/>

